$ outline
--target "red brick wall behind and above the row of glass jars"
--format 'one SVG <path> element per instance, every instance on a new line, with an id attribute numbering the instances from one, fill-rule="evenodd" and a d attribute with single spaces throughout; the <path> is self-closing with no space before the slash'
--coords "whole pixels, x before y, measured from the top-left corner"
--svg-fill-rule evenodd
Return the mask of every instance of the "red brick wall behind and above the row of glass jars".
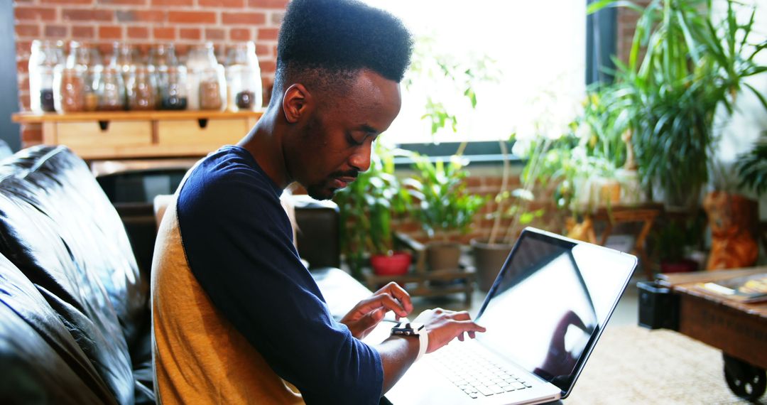
<path id="1" fill-rule="evenodd" d="M 29 110 L 28 58 L 34 39 L 77 40 L 110 51 L 113 41 L 189 45 L 255 41 L 264 88 L 274 79 L 277 35 L 288 0 L 16 0 L 19 110 Z M 21 128 L 24 147 L 40 143 L 39 125 Z"/>

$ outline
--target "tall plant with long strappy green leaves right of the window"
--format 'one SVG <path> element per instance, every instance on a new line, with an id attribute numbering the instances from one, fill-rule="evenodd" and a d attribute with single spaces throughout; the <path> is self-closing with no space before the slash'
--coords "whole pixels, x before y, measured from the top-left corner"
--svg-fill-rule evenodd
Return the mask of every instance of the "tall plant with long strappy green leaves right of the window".
<path id="1" fill-rule="evenodd" d="M 595 12 L 607 5 L 629 5 L 642 13 L 627 64 L 615 61 L 615 86 L 627 100 L 620 105 L 643 183 L 647 189 L 659 186 L 669 209 L 690 209 L 700 200 L 716 140 L 715 111 L 723 107 L 732 114 L 741 87 L 765 104 L 743 82 L 765 71 L 755 58 L 765 47 L 749 43 L 753 12 L 749 21 L 738 21 L 733 3 L 727 0 L 721 22 L 703 0 L 652 0 L 644 9 L 604 1 L 589 7 Z"/>

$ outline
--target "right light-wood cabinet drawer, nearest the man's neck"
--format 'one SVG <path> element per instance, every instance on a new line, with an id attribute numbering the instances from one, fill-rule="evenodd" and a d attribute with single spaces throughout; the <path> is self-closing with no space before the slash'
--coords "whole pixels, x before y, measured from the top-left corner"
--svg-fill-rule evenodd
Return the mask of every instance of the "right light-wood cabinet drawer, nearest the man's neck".
<path id="1" fill-rule="evenodd" d="M 247 119 L 160 120 L 157 143 L 161 146 L 204 147 L 209 151 L 237 143 L 250 130 Z"/>

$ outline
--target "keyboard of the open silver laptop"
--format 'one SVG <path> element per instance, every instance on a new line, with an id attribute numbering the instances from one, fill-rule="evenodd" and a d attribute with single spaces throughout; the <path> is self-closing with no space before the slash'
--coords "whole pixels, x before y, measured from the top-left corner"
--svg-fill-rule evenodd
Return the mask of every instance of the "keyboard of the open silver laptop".
<path id="1" fill-rule="evenodd" d="M 448 345 L 431 354 L 431 357 L 436 361 L 439 372 L 472 398 L 531 387 L 522 376 L 489 360 L 470 345 Z"/>

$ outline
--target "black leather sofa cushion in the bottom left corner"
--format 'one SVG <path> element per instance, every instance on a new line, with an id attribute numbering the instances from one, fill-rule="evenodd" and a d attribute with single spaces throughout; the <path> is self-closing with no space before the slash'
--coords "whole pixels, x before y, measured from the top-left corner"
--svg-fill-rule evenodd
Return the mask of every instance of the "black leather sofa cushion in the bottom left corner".
<path id="1" fill-rule="evenodd" d="M 35 285 L 0 256 L 0 403 L 115 403 Z"/>

